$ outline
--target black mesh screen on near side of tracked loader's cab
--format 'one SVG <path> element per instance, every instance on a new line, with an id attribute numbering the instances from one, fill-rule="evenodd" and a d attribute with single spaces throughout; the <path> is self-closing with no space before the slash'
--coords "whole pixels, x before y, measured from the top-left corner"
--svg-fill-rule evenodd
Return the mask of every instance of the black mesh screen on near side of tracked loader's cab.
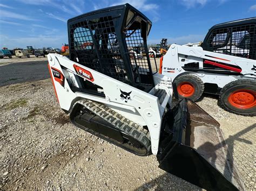
<path id="1" fill-rule="evenodd" d="M 71 49 L 75 49 L 79 63 L 129 83 L 112 17 L 73 24 L 70 31 Z"/>

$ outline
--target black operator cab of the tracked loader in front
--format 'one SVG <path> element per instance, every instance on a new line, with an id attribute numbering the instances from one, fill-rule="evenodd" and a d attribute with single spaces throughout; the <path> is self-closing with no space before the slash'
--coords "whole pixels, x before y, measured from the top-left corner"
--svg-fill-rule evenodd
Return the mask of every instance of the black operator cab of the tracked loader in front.
<path id="1" fill-rule="evenodd" d="M 151 21 L 130 4 L 69 19 L 70 59 L 149 92 L 154 87 L 146 43 L 151 25 Z M 134 49 L 139 49 L 144 56 L 138 56 Z M 91 82 L 82 83 L 91 87 L 88 84 Z"/>

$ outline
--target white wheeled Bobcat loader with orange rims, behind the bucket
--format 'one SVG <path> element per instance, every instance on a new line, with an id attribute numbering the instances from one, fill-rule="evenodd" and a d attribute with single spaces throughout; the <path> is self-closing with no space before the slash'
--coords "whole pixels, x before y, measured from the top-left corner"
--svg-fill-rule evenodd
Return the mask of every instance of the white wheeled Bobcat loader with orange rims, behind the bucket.
<path id="1" fill-rule="evenodd" d="M 213 26 L 201 47 L 172 44 L 160 59 L 161 74 L 173 80 L 174 96 L 198 100 L 219 95 L 219 105 L 256 115 L 256 17 Z"/>

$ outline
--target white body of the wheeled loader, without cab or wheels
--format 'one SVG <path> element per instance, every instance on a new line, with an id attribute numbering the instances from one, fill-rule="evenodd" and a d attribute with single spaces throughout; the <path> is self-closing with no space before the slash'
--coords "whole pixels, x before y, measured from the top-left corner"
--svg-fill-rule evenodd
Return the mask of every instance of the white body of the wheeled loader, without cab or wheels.
<path id="1" fill-rule="evenodd" d="M 212 64 L 221 62 L 221 66 L 225 67 L 225 69 L 239 72 L 239 75 L 214 74 L 207 72 L 207 70 L 204 71 L 203 69 L 200 70 L 200 72 L 189 72 L 183 68 L 187 63 L 192 62 L 198 62 L 199 68 L 203 68 L 205 60 L 211 63 L 213 62 Z M 161 67 L 161 74 L 171 77 L 172 80 L 177 76 L 191 73 L 200 77 L 204 83 L 217 84 L 219 88 L 223 88 L 227 83 L 239 79 L 256 80 L 256 60 L 208 52 L 204 51 L 203 48 L 199 46 L 190 47 L 172 44 L 163 57 Z"/>

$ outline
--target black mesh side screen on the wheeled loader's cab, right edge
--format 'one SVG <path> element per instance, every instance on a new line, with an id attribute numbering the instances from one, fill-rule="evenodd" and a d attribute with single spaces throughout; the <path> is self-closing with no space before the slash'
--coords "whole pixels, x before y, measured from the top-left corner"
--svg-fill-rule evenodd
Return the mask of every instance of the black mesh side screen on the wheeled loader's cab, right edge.
<path id="1" fill-rule="evenodd" d="M 255 37 L 255 25 L 228 27 L 214 30 L 207 44 L 213 52 L 255 60 Z"/>

